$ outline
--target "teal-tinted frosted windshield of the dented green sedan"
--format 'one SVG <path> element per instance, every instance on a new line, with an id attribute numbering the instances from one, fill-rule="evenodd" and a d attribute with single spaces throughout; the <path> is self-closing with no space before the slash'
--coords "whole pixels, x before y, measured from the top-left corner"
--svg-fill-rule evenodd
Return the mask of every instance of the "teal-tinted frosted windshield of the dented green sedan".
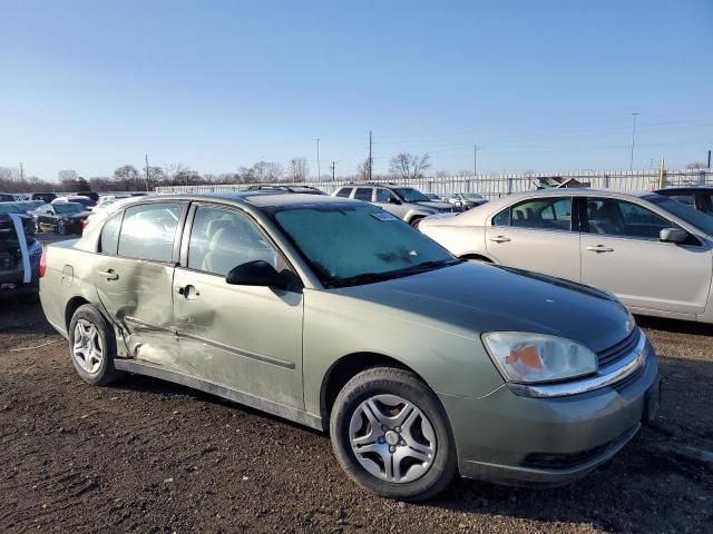
<path id="1" fill-rule="evenodd" d="M 290 207 L 274 217 L 328 287 L 369 284 L 460 261 L 373 206 Z"/>

